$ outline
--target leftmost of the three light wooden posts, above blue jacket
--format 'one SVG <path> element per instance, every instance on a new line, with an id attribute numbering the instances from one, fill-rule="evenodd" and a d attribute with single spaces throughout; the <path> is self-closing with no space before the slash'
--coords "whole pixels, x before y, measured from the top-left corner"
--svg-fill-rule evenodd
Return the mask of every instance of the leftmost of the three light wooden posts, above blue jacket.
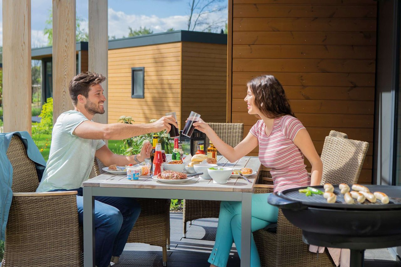
<path id="1" fill-rule="evenodd" d="M 31 133 L 30 0 L 3 0 L 4 132 Z"/>

